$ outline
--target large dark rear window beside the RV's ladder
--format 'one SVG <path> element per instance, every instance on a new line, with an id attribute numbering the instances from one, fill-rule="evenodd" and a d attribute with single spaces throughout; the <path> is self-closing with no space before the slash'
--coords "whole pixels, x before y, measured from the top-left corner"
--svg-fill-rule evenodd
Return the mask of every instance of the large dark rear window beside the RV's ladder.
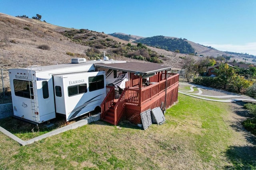
<path id="1" fill-rule="evenodd" d="M 29 86 L 30 83 L 30 86 Z M 31 81 L 13 80 L 15 96 L 34 99 L 33 85 Z M 30 87 L 30 89 L 29 89 Z"/>

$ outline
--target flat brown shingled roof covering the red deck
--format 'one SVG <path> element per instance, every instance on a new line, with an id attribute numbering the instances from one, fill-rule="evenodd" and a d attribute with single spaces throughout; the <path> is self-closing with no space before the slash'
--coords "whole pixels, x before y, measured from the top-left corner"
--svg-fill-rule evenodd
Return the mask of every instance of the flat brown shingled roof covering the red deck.
<path id="1" fill-rule="evenodd" d="M 113 70 L 120 70 L 125 72 L 132 72 L 137 75 L 147 75 L 155 72 L 164 70 L 170 70 L 170 66 L 164 66 L 163 64 L 157 63 L 138 63 L 138 62 L 127 62 L 127 63 L 97 63 L 95 67 L 108 68 Z"/>

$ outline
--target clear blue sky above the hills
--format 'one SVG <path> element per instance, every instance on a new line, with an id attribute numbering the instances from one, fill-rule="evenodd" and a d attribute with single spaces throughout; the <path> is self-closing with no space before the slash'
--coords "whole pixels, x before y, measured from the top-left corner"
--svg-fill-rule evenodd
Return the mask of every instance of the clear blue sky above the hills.
<path id="1" fill-rule="evenodd" d="M 256 55 L 256 0 L 0 0 L 11 16 L 40 14 L 63 27 L 186 38 Z"/>

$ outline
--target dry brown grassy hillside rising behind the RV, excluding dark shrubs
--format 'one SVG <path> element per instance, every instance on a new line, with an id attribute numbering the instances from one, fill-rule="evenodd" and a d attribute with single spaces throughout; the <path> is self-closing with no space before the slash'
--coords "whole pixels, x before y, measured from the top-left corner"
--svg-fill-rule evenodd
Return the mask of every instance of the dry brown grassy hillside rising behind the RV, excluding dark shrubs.
<path id="1" fill-rule="evenodd" d="M 74 35 L 76 40 L 69 36 L 63 35 L 65 31 L 74 29 L 60 27 L 39 20 L 29 18 L 18 18 L 0 13 L 0 67 L 1 68 L 23 68 L 29 65 L 50 65 L 60 63 L 70 63 L 70 59 L 74 57 L 86 56 L 86 50 L 90 48 L 92 43 L 106 41 L 111 39 L 120 47 L 127 45 L 129 42 L 110 35 L 99 33 L 96 31 L 85 30 L 84 34 Z M 78 30 L 79 31 L 79 30 Z M 73 38 L 74 38 L 73 37 Z M 136 45 L 131 43 L 132 45 Z M 39 46 L 48 46 L 50 49 L 39 49 Z M 122 46 L 120 47 L 122 48 Z M 184 54 L 177 54 L 171 51 L 148 47 L 152 51 L 156 51 L 165 65 L 172 66 L 174 70 L 181 68 L 182 57 Z M 112 59 L 139 61 L 114 54 L 113 47 L 99 49 L 100 51 L 109 51 L 108 55 Z M 73 54 L 73 56 L 66 53 Z M 102 53 L 103 56 L 103 53 Z"/>

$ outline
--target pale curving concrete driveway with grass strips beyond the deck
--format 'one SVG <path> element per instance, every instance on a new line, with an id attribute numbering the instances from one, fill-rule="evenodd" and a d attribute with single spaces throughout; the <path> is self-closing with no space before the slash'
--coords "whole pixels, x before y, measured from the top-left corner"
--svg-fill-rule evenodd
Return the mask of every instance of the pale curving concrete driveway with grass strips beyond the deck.
<path id="1" fill-rule="evenodd" d="M 238 101 L 244 101 L 244 102 L 256 102 L 254 98 L 250 98 L 248 96 L 243 96 L 239 94 L 234 94 L 231 92 L 225 92 L 222 90 L 217 90 L 214 88 L 208 88 L 196 84 L 190 84 L 190 83 L 179 83 L 180 88 L 188 86 L 190 90 L 179 90 L 178 92 L 181 94 L 185 94 L 194 98 L 199 98 L 203 100 L 210 100 L 210 101 L 216 101 L 216 102 L 238 102 Z M 195 93 L 195 89 L 198 91 Z M 193 93 L 194 92 L 194 93 Z M 216 99 L 212 99 L 216 98 Z"/>

